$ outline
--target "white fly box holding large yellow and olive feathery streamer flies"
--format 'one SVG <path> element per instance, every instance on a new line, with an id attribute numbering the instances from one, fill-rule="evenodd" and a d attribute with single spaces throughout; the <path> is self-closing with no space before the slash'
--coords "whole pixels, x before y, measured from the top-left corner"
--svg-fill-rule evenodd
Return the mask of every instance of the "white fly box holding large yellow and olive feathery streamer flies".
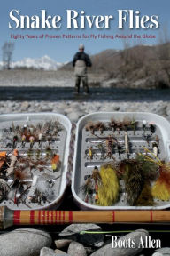
<path id="1" fill-rule="evenodd" d="M 84 210 L 170 207 L 169 159 L 165 118 L 139 112 L 83 116 L 76 130 L 74 200 Z"/>

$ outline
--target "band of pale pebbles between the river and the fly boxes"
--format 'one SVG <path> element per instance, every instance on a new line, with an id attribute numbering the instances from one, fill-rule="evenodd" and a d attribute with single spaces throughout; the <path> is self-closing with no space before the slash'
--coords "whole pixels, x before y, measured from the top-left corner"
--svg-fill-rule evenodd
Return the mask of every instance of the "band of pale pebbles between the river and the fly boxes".
<path id="1" fill-rule="evenodd" d="M 81 103 L 81 104 L 80 104 Z M 108 100 L 73 101 L 73 100 L 0 100 L 0 114 L 24 112 L 56 112 L 77 122 L 81 116 L 93 112 L 151 112 L 164 116 L 170 121 L 170 101 L 151 102 L 108 102 Z"/>

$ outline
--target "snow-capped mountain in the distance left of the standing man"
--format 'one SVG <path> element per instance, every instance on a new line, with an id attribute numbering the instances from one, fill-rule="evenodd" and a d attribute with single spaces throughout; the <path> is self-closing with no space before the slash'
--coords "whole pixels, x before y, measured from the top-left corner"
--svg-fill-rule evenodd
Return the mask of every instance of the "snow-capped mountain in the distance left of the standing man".
<path id="1" fill-rule="evenodd" d="M 41 58 L 31 59 L 24 58 L 23 60 L 14 61 L 11 64 L 11 68 L 35 68 L 43 70 L 57 70 L 63 65 L 55 60 L 50 59 L 48 55 L 45 55 Z M 3 63 L 0 63 L 0 66 L 3 67 Z"/>

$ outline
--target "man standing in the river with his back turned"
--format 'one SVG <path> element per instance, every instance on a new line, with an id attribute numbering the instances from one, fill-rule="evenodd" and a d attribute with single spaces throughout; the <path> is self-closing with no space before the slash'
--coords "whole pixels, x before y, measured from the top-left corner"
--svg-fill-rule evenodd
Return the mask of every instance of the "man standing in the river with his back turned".
<path id="1" fill-rule="evenodd" d="M 73 67 L 75 75 L 75 90 L 80 92 L 81 81 L 85 94 L 89 93 L 87 67 L 91 67 L 91 60 L 89 55 L 84 52 L 84 44 L 79 45 L 79 52 L 73 57 Z"/>

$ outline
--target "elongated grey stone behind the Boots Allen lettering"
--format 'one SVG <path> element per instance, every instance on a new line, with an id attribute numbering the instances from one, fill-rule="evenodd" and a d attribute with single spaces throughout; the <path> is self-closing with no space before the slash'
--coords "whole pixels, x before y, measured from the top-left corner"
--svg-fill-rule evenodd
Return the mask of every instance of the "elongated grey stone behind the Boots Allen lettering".
<path id="1" fill-rule="evenodd" d="M 140 244 L 141 238 L 144 239 L 146 236 L 149 236 L 148 231 L 144 229 L 137 229 L 134 232 L 129 233 L 126 236 L 120 237 L 118 241 L 127 241 L 128 244 L 128 239 L 135 240 L 135 248 L 112 248 L 112 243 L 107 244 L 104 247 L 100 248 L 96 252 L 92 253 L 90 256 L 134 256 L 141 252 L 143 248 L 138 248 Z M 144 243 L 143 243 L 144 244 Z"/>

